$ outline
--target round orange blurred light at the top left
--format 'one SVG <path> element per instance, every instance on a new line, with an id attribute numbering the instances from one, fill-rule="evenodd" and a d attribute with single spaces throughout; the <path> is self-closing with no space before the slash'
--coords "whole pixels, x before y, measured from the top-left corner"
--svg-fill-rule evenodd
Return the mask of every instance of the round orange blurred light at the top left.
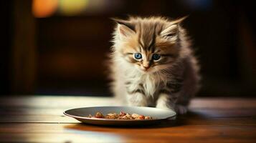
<path id="1" fill-rule="evenodd" d="M 32 13 L 37 18 L 48 17 L 57 11 L 58 0 L 34 0 L 32 2 Z"/>

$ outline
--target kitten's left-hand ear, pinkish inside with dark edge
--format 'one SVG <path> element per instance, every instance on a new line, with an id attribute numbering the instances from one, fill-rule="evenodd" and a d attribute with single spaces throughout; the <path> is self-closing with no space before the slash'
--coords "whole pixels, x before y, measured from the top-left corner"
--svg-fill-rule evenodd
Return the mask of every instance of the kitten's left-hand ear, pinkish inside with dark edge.
<path id="1" fill-rule="evenodd" d="M 127 38 L 133 34 L 136 34 L 135 26 L 131 24 L 130 21 L 125 21 L 123 19 L 115 19 L 112 18 L 118 24 L 118 32 L 122 36 L 122 38 Z"/>

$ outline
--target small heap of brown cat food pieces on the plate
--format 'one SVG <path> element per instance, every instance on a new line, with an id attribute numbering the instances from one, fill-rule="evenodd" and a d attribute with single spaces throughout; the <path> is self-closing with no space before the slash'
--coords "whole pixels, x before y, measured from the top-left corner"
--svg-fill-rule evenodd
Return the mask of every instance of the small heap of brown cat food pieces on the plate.
<path id="1" fill-rule="evenodd" d="M 103 118 L 103 119 L 153 119 L 152 117 L 149 116 L 144 116 L 141 114 L 129 114 L 125 112 L 120 112 L 120 114 L 116 113 L 109 113 L 107 115 L 103 115 L 101 112 L 97 112 L 95 116 L 92 116 L 89 114 L 87 117 L 89 118 Z"/>

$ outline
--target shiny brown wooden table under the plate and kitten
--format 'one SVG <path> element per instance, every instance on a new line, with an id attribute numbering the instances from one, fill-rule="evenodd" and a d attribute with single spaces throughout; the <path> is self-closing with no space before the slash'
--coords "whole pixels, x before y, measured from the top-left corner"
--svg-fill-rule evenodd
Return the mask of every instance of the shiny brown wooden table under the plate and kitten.
<path id="1" fill-rule="evenodd" d="M 256 99 L 197 98 L 175 124 L 99 127 L 65 109 L 118 105 L 109 97 L 0 98 L 0 142 L 256 142 Z"/>

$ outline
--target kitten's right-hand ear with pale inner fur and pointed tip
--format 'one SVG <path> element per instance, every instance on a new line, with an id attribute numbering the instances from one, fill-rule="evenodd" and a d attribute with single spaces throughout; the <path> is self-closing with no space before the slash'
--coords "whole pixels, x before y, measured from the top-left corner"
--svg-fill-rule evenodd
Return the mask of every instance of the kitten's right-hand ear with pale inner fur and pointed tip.
<path id="1" fill-rule="evenodd" d="M 163 29 L 160 35 L 165 39 L 176 40 L 179 33 L 179 24 L 186 19 L 187 16 L 181 17 L 174 21 L 170 21 L 169 24 Z"/>

